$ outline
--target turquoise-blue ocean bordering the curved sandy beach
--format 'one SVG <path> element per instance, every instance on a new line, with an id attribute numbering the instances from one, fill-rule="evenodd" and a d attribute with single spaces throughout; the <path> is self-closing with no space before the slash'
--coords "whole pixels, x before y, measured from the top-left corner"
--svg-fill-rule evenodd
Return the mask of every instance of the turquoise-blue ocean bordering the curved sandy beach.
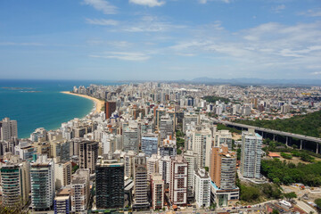
<path id="1" fill-rule="evenodd" d="M 83 118 L 94 108 L 89 99 L 60 92 L 90 84 L 116 85 L 107 81 L 0 79 L 0 119 L 17 120 L 19 138 L 29 137 L 36 128 L 60 128 L 62 122 Z"/>

